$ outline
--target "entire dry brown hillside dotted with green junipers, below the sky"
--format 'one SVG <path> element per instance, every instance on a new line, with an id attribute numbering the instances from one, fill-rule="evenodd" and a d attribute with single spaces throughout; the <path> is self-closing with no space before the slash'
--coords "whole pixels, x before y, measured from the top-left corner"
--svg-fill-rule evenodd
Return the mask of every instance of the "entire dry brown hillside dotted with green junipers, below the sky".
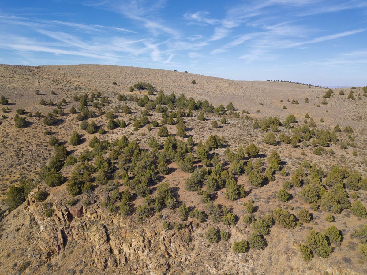
<path id="1" fill-rule="evenodd" d="M 367 272 L 366 87 L 0 65 L 0 96 L 4 274 Z"/>

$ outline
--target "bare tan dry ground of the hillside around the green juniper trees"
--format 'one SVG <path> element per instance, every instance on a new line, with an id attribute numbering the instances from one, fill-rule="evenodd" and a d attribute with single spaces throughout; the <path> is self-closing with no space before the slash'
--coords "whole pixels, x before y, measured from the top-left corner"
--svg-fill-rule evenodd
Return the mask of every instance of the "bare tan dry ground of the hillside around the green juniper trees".
<path id="1" fill-rule="evenodd" d="M 193 79 L 195 79 L 198 84 L 191 84 Z M 116 81 L 117 85 L 112 85 L 112 81 Z M 334 97 L 327 99 L 328 104 L 321 104 L 322 96 L 326 92 L 326 89 L 317 87 L 309 88 L 306 85 L 294 83 L 232 81 L 190 73 L 137 67 L 103 65 L 29 67 L 0 65 L 0 95 L 4 95 L 10 103 L 6 106 L 9 110 L 4 114 L 7 118 L 2 119 L 0 125 L 0 198 L 4 197 L 10 184 L 17 184 L 20 179 L 35 176 L 35 173 L 40 170 L 40 167 L 43 164 L 47 164 L 54 156 L 54 148 L 48 144 L 50 136 L 45 136 L 43 134 L 46 129 L 49 129 L 52 135 L 57 136 L 59 140 L 63 141 L 66 148 L 72 151 L 76 156 L 80 155 L 82 151 L 88 147 L 89 141 L 94 135 L 82 131 L 78 126 L 80 122 L 75 119 L 76 114 L 69 113 L 71 106 L 75 106 L 76 109 L 79 107 L 79 103 L 73 101 L 75 95 L 101 92 L 103 96 L 107 96 L 111 101 L 111 104 L 107 104 L 103 107 L 104 113 L 119 104 L 128 105 L 133 111 L 132 114 L 116 114 L 120 120 L 123 119 L 128 121 L 129 118 L 131 120 L 134 117 L 138 118 L 140 116 L 140 111 L 145 108 L 137 106 L 135 102 L 119 102 L 116 100 L 116 97 L 118 94 L 126 94 L 128 96 L 130 94 L 128 88 L 139 81 L 149 82 L 156 87 L 157 90 L 163 89 L 165 94 L 175 92 L 176 96 L 183 93 L 186 98 L 192 96 L 196 100 L 207 99 L 214 106 L 218 106 L 219 104 L 224 104 L 224 106 L 226 106 L 229 102 L 233 102 L 237 110 L 249 111 L 248 115 L 253 119 L 246 119 L 244 114 L 241 114 L 240 118 L 235 118 L 233 115 L 226 115 L 228 123 L 215 129 L 211 127 L 211 122 L 214 120 L 219 122 L 221 117 L 211 113 L 206 114 L 206 121 L 198 121 L 196 116 L 199 112 L 194 111 L 193 117 L 185 117 L 184 119 L 186 128 L 188 128 L 186 131 L 187 135 L 193 136 L 194 143 L 198 143 L 200 140 L 205 142 L 211 134 L 224 136 L 226 145 L 230 146 L 231 150 L 236 150 L 239 146 L 244 148 L 254 143 L 259 147 L 260 154 L 264 156 L 269 155 L 272 150 L 276 149 L 281 160 L 285 163 L 288 175 L 284 177 L 276 173 L 275 180 L 263 187 L 252 186 L 246 175 L 238 176 L 237 183 L 243 184 L 247 191 L 245 198 L 233 202 L 224 197 L 225 189 L 215 192 L 215 203 L 228 206 L 228 208 L 232 210 L 232 213 L 239 217 L 236 227 L 220 225 L 221 230 L 232 232 L 233 238 L 230 239 L 230 243 L 239 241 L 241 238 L 246 239 L 252 232 L 251 226 L 246 225 L 242 221 L 242 217 L 247 214 L 243 202 L 248 202 L 250 200 L 254 201 L 254 205 L 257 208 L 254 213 L 255 218 L 272 213 L 272 210 L 277 206 L 288 208 L 288 210 L 294 214 L 305 207 L 313 216 L 311 223 L 296 227 L 292 230 L 286 230 L 279 225 L 275 225 L 270 230 L 270 234 L 266 236 L 268 246 L 264 250 L 250 250 L 246 256 L 239 256 L 239 254 L 233 253 L 230 249 L 230 243 L 220 242 L 217 245 L 211 245 L 210 249 L 208 249 L 205 240 L 205 231 L 207 227 L 211 225 L 211 221 L 208 219 L 207 223 L 200 225 L 199 228 L 193 229 L 193 243 L 185 248 L 185 253 L 188 253 L 190 256 L 188 256 L 185 261 L 193 263 L 195 258 L 202 254 L 199 258 L 206 265 L 206 268 L 201 270 L 201 274 L 222 274 L 223 271 L 228 271 L 229 274 L 243 274 L 244 272 L 248 274 L 262 274 L 261 272 L 265 272 L 265 274 L 323 274 L 322 272 L 324 271 L 329 271 L 329 274 L 366 274 L 366 260 L 361 258 L 358 253 L 357 241 L 350 236 L 353 230 L 358 228 L 361 224 L 366 223 L 366 219 L 356 217 L 349 210 L 344 210 L 341 214 L 335 214 L 335 222 L 333 225 L 342 231 L 343 241 L 341 245 L 333 245 L 334 251 L 327 260 L 314 258 L 311 262 L 305 263 L 302 260 L 297 245 L 305 241 L 308 229 L 313 228 L 316 231 L 323 232 L 331 225 L 325 221 L 327 212 L 311 210 L 310 205 L 305 203 L 298 195 L 302 187 L 293 187 L 291 190 L 288 190 L 292 195 L 292 199 L 288 202 L 280 202 L 276 198 L 276 192 L 282 188 L 283 182 L 285 180 L 290 180 L 299 163 L 305 160 L 310 163 L 316 163 L 317 166 L 323 168 L 326 173 L 330 170 L 331 165 L 339 165 L 348 166 L 352 171 L 357 170 L 362 177 L 367 176 L 367 98 L 362 96 L 362 99 L 357 99 L 358 94 L 363 94 L 360 87 L 354 90 L 355 100 L 347 99 L 350 89 L 344 88 L 345 95 L 339 95 L 341 89 L 334 89 Z M 39 95 L 34 93 L 36 89 L 39 89 Z M 51 94 L 51 92 L 55 92 L 55 94 Z M 137 94 L 137 92 L 135 92 L 135 94 Z M 139 96 L 139 94 L 137 95 Z M 40 105 L 40 100 L 45 99 L 47 101 L 51 99 L 54 103 L 58 103 L 62 98 L 66 99 L 67 104 L 62 107 L 65 111 L 65 115 L 58 116 L 58 124 L 54 126 L 45 126 L 42 124 L 43 116 L 32 118 L 26 117 L 26 120 L 29 122 L 27 128 L 17 129 L 14 127 L 13 118 L 15 117 L 17 109 L 24 108 L 26 113 L 40 111 L 42 115 L 45 115 L 55 109 L 55 106 Z M 308 98 L 309 103 L 305 103 L 305 98 Z M 151 99 L 154 100 L 155 96 L 151 96 Z M 290 102 L 287 102 L 288 99 Z M 299 104 L 291 104 L 292 99 L 297 100 Z M 283 102 L 280 102 L 280 100 L 283 100 Z M 317 107 L 317 104 L 320 104 L 320 107 Z M 283 105 L 286 105 L 287 109 L 282 109 Z M 259 110 L 259 113 L 257 113 L 257 110 Z M 149 121 L 161 120 L 161 114 L 157 114 L 155 111 L 150 111 L 150 113 L 152 116 L 149 117 Z M 347 149 L 340 148 L 339 143 L 341 141 L 351 143 L 346 134 L 341 132 L 337 134 L 339 142 L 337 144 L 331 144 L 330 147 L 327 148 L 327 150 L 330 148 L 333 149 L 335 153 L 324 153 L 318 156 L 312 153 L 315 149 L 313 146 L 303 146 L 299 144 L 299 147 L 292 148 L 290 144 L 284 143 L 278 144 L 277 146 L 265 144 L 263 138 L 267 132 L 261 129 L 252 128 L 254 119 L 260 119 L 271 115 L 278 116 L 281 121 L 283 121 L 289 114 L 294 114 L 298 120 L 296 125 L 302 126 L 306 113 L 315 120 L 317 129 L 332 131 L 336 124 L 339 124 L 342 129 L 348 125 L 352 126 L 354 129 L 354 133 L 352 134 L 354 141 L 352 145 L 354 147 L 348 146 Z M 321 118 L 324 120 L 322 123 L 320 122 Z M 88 122 L 90 120 L 91 119 L 88 119 Z M 108 130 L 106 128 L 108 120 L 103 115 L 93 120 L 97 125 L 102 125 L 107 130 L 104 135 L 96 134 L 101 140 L 109 140 L 112 142 L 116 138 L 126 135 L 129 140 L 138 140 L 142 148 L 148 148 L 147 143 L 151 136 L 157 137 L 160 144 L 163 144 L 165 140 L 165 138 L 157 136 L 157 128 L 153 128 L 152 131 L 148 132 L 145 126 L 138 131 L 133 131 L 133 126 L 131 124 L 126 128 Z M 175 125 L 167 125 L 167 128 L 170 133 L 176 133 Z M 79 133 L 83 132 L 83 142 L 79 146 L 72 146 L 69 144 L 71 133 L 74 130 L 77 130 Z M 291 135 L 291 129 L 281 128 L 280 132 Z M 276 133 L 276 137 L 279 136 L 280 132 Z M 356 151 L 358 156 L 354 156 L 352 154 L 353 151 Z M 216 149 L 214 152 L 219 154 L 222 162 L 228 167 L 229 164 L 225 161 L 224 148 Z M 263 158 L 264 163 L 266 163 L 266 157 Z M 185 180 L 189 176 L 189 173 L 182 172 L 177 168 L 174 162 L 169 164 L 169 167 L 171 172 L 166 176 L 162 176 L 162 180 L 169 182 L 171 187 L 177 188 L 179 199 L 186 202 L 187 206 L 205 210 L 204 204 L 200 201 L 200 196 L 185 188 Z M 71 170 L 70 167 L 63 168 L 63 175 L 66 177 L 69 176 Z M 120 181 L 120 183 L 122 183 L 122 180 Z M 54 188 L 46 187 L 47 191 L 50 193 L 47 200 L 65 203 L 67 199 L 70 199 L 70 195 L 68 195 L 65 190 L 65 185 L 66 184 L 63 184 L 62 186 Z M 120 191 L 124 188 L 126 187 L 121 186 Z M 154 188 L 155 187 L 152 187 L 152 197 L 154 197 Z M 349 194 L 352 192 L 351 190 L 347 191 Z M 357 192 L 361 202 L 367 206 L 367 192 L 363 190 Z M 101 207 L 100 200 L 105 193 L 106 192 L 101 186 L 94 190 L 98 208 L 103 209 L 101 211 L 104 213 L 103 219 L 105 219 L 104 223 L 106 227 L 112 228 L 114 226 L 112 222 L 113 219 L 118 219 L 121 223 L 126 224 L 134 223 L 132 217 L 126 219 L 119 214 L 109 214 L 106 209 Z M 87 195 L 82 194 L 78 197 L 79 202 L 81 202 Z M 349 200 L 352 203 L 354 202 L 354 199 L 349 198 Z M 138 198 L 134 201 L 134 206 L 142 202 L 143 199 Z M 39 205 L 39 208 L 41 208 L 41 205 Z M 27 227 L 23 226 L 24 223 L 22 224 L 22 222 L 20 222 L 20 220 L 24 219 L 25 215 L 22 211 L 23 208 L 18 208 L 14 213 L 9 214 L 2 224 L 3 233 L 0 238 L 0 249 L 2 252 L 0 256 L 2 259 L 10 257 L 11 261 L 1 260 L 1 265 L 3 265 L 4 270 L 9 272 L 12 269 L 12 265 L 17 262 L 17 257 L 18 259 L 23 259 L 27 256 L 27 253 L 29 255 L 29 253 L 32 252 L 29 251 L 30 249 L 34 249 L 34 251 L 40 249 L 37 241 L 33 241 L 32 246 L 27 248 L 25 240 L 22 239 L 28 234 L 26 232 L 28 230 Z M 164 210 L 163 215 L 170 217 L 171 221 L 179 221 L 178 213 L 175 213 L 175 210 Z M 14 221 L 12 221 L 12 219 Z M 190 223 L 192 223 L 192 220 L 190 220 Z M 151 218 L 149 224 L 146 225 L 146 230 L 150 227 L 157 227 L 161 230 L 161 220 L 157 215 Z M 11 236 L 14 230 L 17 230 L 17 245 L 9 252 L 7 246 L 12 242 Z M 33 230 L 38 232 L 37 228 Z M 115 233 L 119 234 L 118 231 Z M 113 234 L 111 234 L 111 236 L 113 236 Z M 66 253 L 70 255 L 67 258 L 79 259 L 80 257 L 80 255 L 78 255 L 81 251 L 80 246 L 75 243 L 70 244 L 70 246 L 71 247 L 66 246 L 58 255 L 55 255 L 50 260 L 50 263 L 54 264 L 54 269 L 47 269 L 49 267 L 46 268 L 46 265 L 44 265 L 43 267 L 38 267 L 40 268 L 39 270 L 41 272 L 47 272 L 48 270 L 48 272 L 55 274 L 65 274 L 66 269 L 64 267 L 66 265 L 69 265 L 69 267 L 73 265 L 70 261 L 64 260 Z M 209 256 L 207 253 L 209 253 Z M 226 260 L 222 259 L 222 265 L 220 265 L 220 263 L 216 265 L 215 270 L 211 269 L 213 267 L 207 259 L 210 257 L 210 253 L 226 254 Z M 92 264 L 88 263 L 85 259 L 83 261 L 84 272 L 92 272 Z M 185 263 L 185 261 L 183 261 L 183 263 Z M 57 264 L 59 267 L 56 267 Z M 232 268 L 232 265 L 239 265 L 239 267 L 237 269 Z M 33 265 L 33 269 L 28 269 L 27 272 L 29 272 L 29 274 L 32 273 L 32 270 L 35 272 L 34 266 L 35 265 Z M 200 266 L 200 268 L 203 267 Z M 13 267 L 13 269 L 16 268 Z M 78 269 L 74 267 L 74 270 L 76 271 Z M 179 272 L 180 269 L 178 268 L 177 270 Z M 196 272 L 198 272 L 198 270 L 200 269 L 197 269 Z M 186 274 L 196 273 L 195 268 L 190 269 L 190 271 L 192 273 L 187 272 Z M 106 272 L 108 271 L 106 270 Z M 100 274 L 103 274 L 103 272 Z M 132 272 L 132 274 L 135 274 L 135 272 Z M 139 274 L 149 274 L 149 271 L 141 271 Z M 160 273 L 157 272 L 156 274 Z M 176 273 L 172 271 L 172 273 L 168 274 Z"/>

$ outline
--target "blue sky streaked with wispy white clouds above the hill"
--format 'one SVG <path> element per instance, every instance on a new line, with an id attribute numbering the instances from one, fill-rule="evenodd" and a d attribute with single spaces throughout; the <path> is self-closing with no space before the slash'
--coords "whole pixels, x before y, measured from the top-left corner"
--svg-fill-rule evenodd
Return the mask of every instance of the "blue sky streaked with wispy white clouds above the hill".
<path id="1" fill-rule="evenodd" d="M 0 63 L 367 85 L 366 0 L 2 0 Z"/>

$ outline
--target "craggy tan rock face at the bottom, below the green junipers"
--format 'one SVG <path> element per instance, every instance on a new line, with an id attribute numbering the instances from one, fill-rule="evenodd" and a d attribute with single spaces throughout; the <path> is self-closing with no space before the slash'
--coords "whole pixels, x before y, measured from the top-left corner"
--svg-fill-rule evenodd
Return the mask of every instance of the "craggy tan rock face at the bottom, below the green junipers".
<path id="1" fill-rule="evenodd" d="M 325 268 L 328 262 L 323 260 L 313 261 L 312 269 L 307 269 L 298 253 L 299 243 L 288 239 L 293 233 L 288 238 L 280 236 L 276 227 L 272 229 L 274 234 L 268 236 L 266 250 L 236 254 L 232 252 L 231 243 L 243 239 L 251 232 L 247 232 L 249 228 L 228 227 L 230 241 L 208 247 L 203 238 L 207 225 L 194 228 L 192 221 L 183 230 L 163 230 L 162 220 L 157 217 L 140 224 L 132 217 L 111 215 L 97 205 L 69 209 L 55 203 L 50 218 L 42 214 L 41 203 L 27 199 L 23 206 L 6 219 L 24 217 L 21 224 L 25 232 L 23 241 L 30 251 L 28 259 L 33 261 L 33 271 L 38 274 L 73 274 L 77 271 L 155 275 L 322 274 L 325 270 L 329 274 L 357 274 L 337 269 L 337 266 Z M 10 236 L 2 238 L 9 239 L 10 243 Z M 290 259 L 293 267 L 289 265 Z M 26 258 L 18 259 L 15 265 L 25 261 Z M 11 268 L 14 269 L 9 263 L 3 270 Z"/>

